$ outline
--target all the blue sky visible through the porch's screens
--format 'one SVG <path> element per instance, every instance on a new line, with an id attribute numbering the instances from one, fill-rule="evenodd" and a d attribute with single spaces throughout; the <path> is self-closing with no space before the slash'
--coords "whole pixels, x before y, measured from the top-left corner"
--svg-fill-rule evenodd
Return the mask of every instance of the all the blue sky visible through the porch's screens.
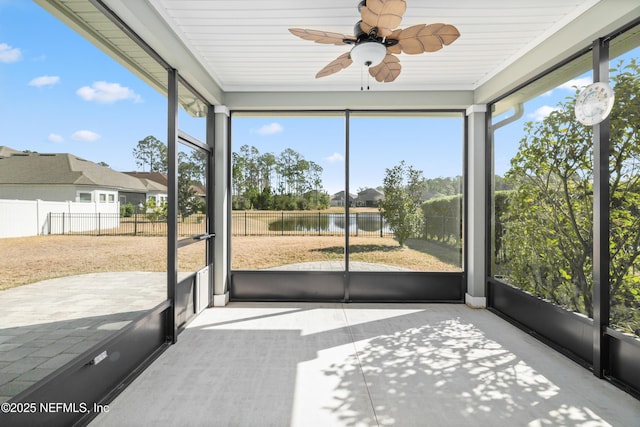
<path id="1" fill-rule="evenodd" d="M 528 102 L 523 118 L 499 131 L 496 173 L 508 169 L 525 121 L 541 120 L 575 85 L 590 82 L 578 76 Z M 180 128 L 204 139 L 204 120 L 184 117 Z M 351 192 L 381 185 L 385 169 L 401 160 L 427 178 L 462 175 L 461 117 L 352 117 Z M 344 188 L 344 118 L 234 118 L 232 126 L 234 150 L 293 148 L 322 166 L 325 190 Z M 0 128 L 0 145 L 141 170 L 132 151 L 149 135 L 166 142 L 166 98 L 37 4 L 0 0 Z"/>

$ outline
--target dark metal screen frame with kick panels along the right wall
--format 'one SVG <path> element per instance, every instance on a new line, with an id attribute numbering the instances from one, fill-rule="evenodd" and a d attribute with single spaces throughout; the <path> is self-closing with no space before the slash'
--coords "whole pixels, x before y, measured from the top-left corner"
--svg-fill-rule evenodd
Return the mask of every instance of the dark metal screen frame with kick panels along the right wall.
<path id="1" fill-rule="evenodd" d="M 591 52 L 594 82 L 609 82 L 610 52 L 612 39 L 640 25 L 640 19 L 612 32 L 606 37 L 594 40 L 586 47 L 555 67 L 518 86 L 507 94 L 489 103 L 493 106 L 500 100 L 519 91 L 523 87 L 554 72 L 578 57 Z M 574 359 L 593 374 L 605 379 L 629 394 L 640 398 L 640 345 L 638 340 L 628 337 L 609 327 L 610 322 L 610 189 L 609 151 L 610 118 L 593 127 L 593 319 L 583 318 L 553 304 L 529 295 L 493 277 L 493 245 L 495 229 L 492 216 L 487 217 L 487 295 L 488 308 L 515 324 L 551 347 Z M 493 174 L 494 143 L 491 132 L 491 116 L 487 116 L 487 206 L 492 212 L 494 194 L 491 187 Z M 541 316 L 541 313 L 545 314 Z M 562 328 L 558 328 L 558 324 Z"/>

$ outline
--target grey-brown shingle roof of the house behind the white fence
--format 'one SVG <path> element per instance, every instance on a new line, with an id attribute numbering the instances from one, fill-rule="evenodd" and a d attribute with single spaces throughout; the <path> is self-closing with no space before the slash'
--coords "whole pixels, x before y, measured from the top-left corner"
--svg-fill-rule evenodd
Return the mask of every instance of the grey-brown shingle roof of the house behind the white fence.
<path id="1" fill-rule="evenodd" d="M 13 153 L 0 157 L 0 184 L 94 185 L 146 192 L 142 181 L 71 154 Z"/>

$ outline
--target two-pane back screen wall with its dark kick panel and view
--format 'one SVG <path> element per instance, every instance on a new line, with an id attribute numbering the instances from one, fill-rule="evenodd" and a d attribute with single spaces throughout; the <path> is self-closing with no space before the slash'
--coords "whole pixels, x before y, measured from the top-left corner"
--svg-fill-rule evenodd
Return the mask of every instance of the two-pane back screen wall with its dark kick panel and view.
<path id="1" fill-rule="evenodd" d="M 463 112 L 231 123 L 232 299 L 463 300 Z"/>

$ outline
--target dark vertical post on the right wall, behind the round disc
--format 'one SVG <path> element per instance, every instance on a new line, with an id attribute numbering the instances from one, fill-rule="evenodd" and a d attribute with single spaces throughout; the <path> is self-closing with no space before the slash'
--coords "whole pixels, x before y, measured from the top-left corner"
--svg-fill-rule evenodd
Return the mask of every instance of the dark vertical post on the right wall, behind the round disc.
<path id="1" fill-rule="evenodd" d="M 593 43 L 593 81 L 609 82 L 609 42 Z M 609 134 L 607 117 L 593 127 L 593 373 L 609 366 Z"/>

